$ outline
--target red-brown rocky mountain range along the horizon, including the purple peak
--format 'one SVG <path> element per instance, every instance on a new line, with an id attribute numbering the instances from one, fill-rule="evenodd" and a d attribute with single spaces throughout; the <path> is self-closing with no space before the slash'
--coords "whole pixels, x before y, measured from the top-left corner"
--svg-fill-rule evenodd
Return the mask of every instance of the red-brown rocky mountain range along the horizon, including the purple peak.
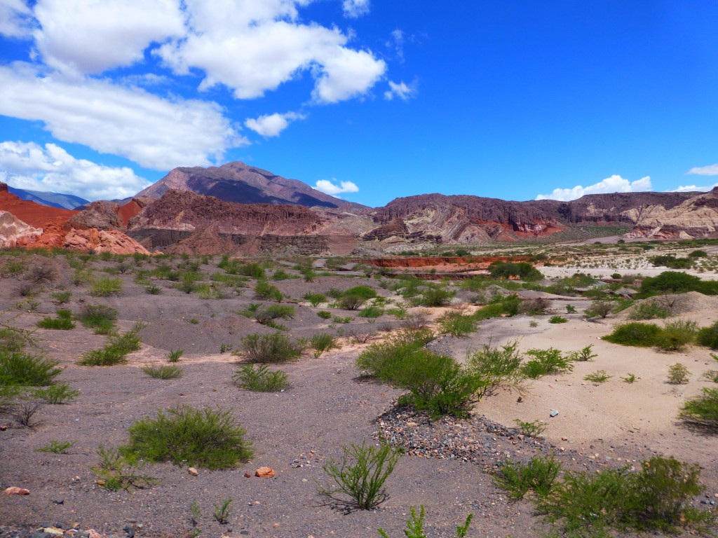
<path id="1" fill-rule="evenodd" d="M 58 203 L 48 200 L 54 193 L 30 194 Z M 174 169 L 128 200 L 78 207 L 86 201 L 54 196 L 82 209 L 65 217 L 65 227 L 110 230 L 149 250 L 176 253 L 361 255 L 598 235 L 718 237 L 718 188 L 589 194 L 570 202 L 421 194 L 372 209 L 234 162 Z"/>

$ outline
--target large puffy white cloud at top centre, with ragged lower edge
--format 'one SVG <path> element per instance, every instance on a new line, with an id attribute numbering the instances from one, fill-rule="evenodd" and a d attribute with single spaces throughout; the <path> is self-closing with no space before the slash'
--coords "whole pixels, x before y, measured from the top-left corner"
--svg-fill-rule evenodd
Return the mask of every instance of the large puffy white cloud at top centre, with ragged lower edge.
<path id="1" fill-rule="evenodd" d="M 316 80 L 315 100 L 336 103 L 366 93 L 386 63 L 371 52 L 346 47 L 339 29 L 297 22 L 297 6 L 311 0 L 186 0 L 186 39 L 163 44 L 157 54 L 180 75 L 205 72 L 200 90 L 223 84 L 236 98 L 275 90 L 302 72 Z"/>

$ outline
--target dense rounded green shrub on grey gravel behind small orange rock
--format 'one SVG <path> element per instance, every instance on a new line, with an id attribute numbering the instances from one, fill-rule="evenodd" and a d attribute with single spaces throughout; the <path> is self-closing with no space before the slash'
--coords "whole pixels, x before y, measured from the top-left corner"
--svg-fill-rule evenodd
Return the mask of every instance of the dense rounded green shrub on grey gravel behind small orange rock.
<path id="1" fill-rule="evenodd" d="M 129 444 L 121 447 L 126 456 L 148 461 L 170 461 L 177 465 L 224 469 L 253 455 L 230 411 L 218 407 L 197 410 L 174 407 L 155 418 L 143 418 L 129 428 Z"/>

